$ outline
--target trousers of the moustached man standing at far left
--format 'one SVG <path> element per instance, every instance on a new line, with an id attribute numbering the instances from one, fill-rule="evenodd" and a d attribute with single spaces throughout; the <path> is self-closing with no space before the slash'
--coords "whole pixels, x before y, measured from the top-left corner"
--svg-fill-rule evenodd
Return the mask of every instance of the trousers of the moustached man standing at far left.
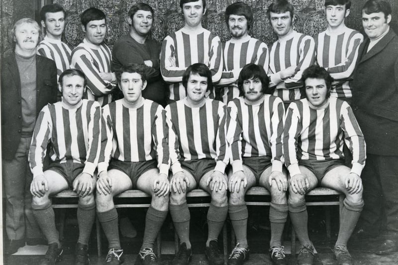
<path id="1" fill-rule="evenodd" d="M 8 239 L 39 238 L 40 228 L 33 217 L 30 183 L 33 175 L 28 164 L 31 138 L 21 138 L 15 157 L 2 160 L 5 230 Z"/>

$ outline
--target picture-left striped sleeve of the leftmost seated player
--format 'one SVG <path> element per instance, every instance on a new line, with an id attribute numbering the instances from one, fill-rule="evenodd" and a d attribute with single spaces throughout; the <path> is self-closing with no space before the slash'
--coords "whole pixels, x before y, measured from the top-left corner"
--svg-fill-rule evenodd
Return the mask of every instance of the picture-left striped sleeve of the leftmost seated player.
<path id="1" fill-rule="evenodd" d="M 48 106 L 43 107 L 37 117 L 29 149 L 29 166 L 33 177 L 43 175 L 43 161 L 47 145 L 51 140 L 52 121 Z"/>

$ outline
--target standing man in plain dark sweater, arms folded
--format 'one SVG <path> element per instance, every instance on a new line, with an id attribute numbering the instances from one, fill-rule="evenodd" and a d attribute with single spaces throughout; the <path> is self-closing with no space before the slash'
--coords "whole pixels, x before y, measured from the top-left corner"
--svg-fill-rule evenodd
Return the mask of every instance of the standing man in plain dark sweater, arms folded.
<path id="1" fill-rule="evenodd" d="M 112 49 L 112 67 L 117 73 L 123 65 L 141 64 L 147 77 L 142 96 L 166 106 L 166 88 L 160 74 L 160 44 L 150 38 L 154 11 L 146 3 L 136 3 L 128 11 L 129 33 L 118 39 Z"/>

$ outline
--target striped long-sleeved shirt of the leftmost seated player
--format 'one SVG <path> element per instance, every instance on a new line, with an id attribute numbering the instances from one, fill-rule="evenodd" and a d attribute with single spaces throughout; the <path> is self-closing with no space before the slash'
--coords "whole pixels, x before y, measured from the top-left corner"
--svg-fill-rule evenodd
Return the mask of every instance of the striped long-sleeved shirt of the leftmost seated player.
<path id="1" fill-rule="evenodd" d="M 40 111 L 29 150 L 33 176 L 43 174 L 47 144 L 50 159 L 57 163 L 85 164 L 84 173 L 93 176 L 100 154 L 101 107 L 96 101 L 83 99 L 75 109 L 63 102 L 48 104 Z"/>

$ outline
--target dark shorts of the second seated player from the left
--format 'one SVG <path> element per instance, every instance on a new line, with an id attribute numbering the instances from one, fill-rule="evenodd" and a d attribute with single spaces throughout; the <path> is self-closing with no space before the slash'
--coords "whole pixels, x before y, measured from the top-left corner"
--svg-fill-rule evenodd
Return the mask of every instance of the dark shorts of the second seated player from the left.
<path id="1" fill-rule="evenodd" d="M 120 170 L 131 179 L 133 189 L 137 188 L 138 178 L 151 169 L 157 169 L 158 164 L 156 160 L 149 160 L 143 162 L 124 162 L 119 160 L 111 160 L 108 170 Z"/>

